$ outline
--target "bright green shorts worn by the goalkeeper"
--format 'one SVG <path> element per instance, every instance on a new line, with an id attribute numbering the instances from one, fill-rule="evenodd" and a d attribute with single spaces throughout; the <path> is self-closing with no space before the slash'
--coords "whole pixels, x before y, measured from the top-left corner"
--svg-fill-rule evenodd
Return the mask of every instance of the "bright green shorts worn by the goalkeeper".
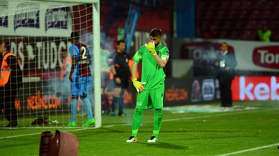
<path id="1" fill-rule="evenodd" d="M 165 87 L 143 90 L 137 94 L 137 109 L 162 109 Z"/>

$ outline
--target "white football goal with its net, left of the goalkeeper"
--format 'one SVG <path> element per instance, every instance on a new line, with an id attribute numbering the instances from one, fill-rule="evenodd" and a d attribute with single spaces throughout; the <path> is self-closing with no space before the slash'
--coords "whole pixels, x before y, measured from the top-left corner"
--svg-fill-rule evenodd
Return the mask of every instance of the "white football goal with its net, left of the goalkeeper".
<path id="1" fill-rule="evenodd" d="M 13 101 L 17 127 L 67 127 L 71 122 L 68 75 L 72 62 L 69 47 L 73 44 L 69 37 L 73 31 L 80 34 L 79 41 L 87 45 L 93 58 L 87 96 L 95 127 L 100 127 L 101 107 L 94 104 L 100 103 L 100 62 L 95 60 L 99 54 L 94 53 L 93 57 L 93 51 L 97 52 L 100 47 L 99 1 L 3 0 L 0 8 L 1 43 L 10 43 L 10 52 L 17 56 L 23 76 L 23 88 L 18 90 Z M 3 101 L 0 105 L 4 105 Z M 8 113 L 5 108 L 0 111 L 0 127 L 3 128 L 9 124 Z M 83 101 L 79 98 L 76 124 L 81 127 L 87 120 Z"/>

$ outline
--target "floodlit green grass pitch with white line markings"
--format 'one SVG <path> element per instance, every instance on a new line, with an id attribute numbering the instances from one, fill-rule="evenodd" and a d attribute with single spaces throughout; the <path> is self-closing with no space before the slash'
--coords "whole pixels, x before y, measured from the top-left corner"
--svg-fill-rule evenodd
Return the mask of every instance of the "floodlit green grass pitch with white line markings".
<path id="1" fill-rule="evenodd" d="M 126 117 L 102 116 L 101 128 L 2 128 L 0 155 L 39 155 L 41 133 L 52 131 L 55 135 L 56 129 L 78 137 L 79 155 L 278 155 L 279 103 L 235 101 L 233 105 L 257 109 L 219 113 L 163 111 L 157 143 L 147 143 L 153 130 L 153 110 L 144 112 L 137 143 L 125 142 L 131 135 L 133 109 L 125 110 Z M 0 125 L 3 123 L 0 121 Z"/>

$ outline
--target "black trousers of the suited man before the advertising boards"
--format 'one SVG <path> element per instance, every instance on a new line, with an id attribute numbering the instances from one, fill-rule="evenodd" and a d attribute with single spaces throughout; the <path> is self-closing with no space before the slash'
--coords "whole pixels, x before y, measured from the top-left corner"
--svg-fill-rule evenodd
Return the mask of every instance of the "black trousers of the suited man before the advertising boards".
<path id="1" fill-rule="evenodd" d="M 232 107 L 231 83 L 232 83 L 232 78 L 230 77 L 225 76 L 219 78 L 222 107 Z"/>

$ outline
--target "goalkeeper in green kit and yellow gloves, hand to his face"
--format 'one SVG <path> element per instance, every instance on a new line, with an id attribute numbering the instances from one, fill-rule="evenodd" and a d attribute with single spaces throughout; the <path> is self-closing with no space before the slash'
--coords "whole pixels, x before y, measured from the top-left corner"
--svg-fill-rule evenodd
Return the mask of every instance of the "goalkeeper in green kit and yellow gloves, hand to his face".
<path id="1" fill-rule="evenodd" d="M 132 121 L 132 135 L 126 142 L 137 142 L 137 131 L 141 125 L 145 109 L 154 109 L 154 129 L 147 142 L 157 142 L 162 124 L 162 109 L 164 98 L 165 67 L 169 51 L 160 44 L 162 32 L 158 28 L 150 31 L 150 42 L 138 49 L 133 56 L 132 82 L 138 95 Z M 141 82 L 136 79 L 137 65 L 142 62 Z"/>

